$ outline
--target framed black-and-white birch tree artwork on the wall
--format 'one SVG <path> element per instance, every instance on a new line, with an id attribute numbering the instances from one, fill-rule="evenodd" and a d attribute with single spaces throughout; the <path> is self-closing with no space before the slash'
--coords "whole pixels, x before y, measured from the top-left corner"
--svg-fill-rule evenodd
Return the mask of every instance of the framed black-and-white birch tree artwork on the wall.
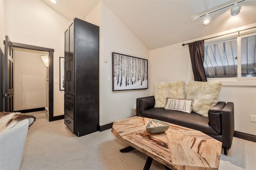
<path id="1" fill-rule="evenodd" d="M 112 53 L 112 91 L 148 88 L 148 60 Z"/>

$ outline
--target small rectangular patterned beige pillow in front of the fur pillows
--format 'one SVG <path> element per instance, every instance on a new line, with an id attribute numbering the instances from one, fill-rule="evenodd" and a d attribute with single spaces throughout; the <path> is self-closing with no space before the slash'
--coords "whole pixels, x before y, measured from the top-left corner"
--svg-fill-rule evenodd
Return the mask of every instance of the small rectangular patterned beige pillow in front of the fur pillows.
<path id="1" fill-rule="evenodd" d="M 167 98 L 164 108 L 168 110 L 177 110 L 185 113 L 191 113 L 192 104 L 193 100 Z"/>

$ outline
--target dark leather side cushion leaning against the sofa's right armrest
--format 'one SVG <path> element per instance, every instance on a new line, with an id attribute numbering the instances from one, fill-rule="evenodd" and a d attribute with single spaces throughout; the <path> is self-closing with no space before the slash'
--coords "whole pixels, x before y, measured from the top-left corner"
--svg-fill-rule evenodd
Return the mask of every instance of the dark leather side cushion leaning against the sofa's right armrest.
<path id="1" fill-rule="evenodd" d="M 226 106 L 225 102 L 218 102 L 208 111 L 209 124 L 219 134 L 222 131 L 222 109 Z"/>

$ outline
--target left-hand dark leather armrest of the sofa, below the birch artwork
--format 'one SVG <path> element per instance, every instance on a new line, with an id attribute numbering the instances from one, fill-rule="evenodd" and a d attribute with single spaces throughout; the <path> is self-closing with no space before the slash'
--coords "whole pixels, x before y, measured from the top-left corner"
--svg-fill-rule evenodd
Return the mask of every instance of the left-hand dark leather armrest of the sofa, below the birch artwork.
<path id="1" fill-rule="evenodd" d="M 136 115 L 140 116 L 140 113 L 144 110 L 153 108 L 155 106 L 154 96 L 137 98 L 136 99 Z"/>

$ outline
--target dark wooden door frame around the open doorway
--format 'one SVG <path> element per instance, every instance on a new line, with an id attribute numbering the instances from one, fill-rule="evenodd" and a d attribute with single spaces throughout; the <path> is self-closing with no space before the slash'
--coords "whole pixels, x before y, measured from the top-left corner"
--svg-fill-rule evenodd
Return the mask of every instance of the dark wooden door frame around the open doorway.
<path id="1" fill-rule="evenodd" d="M 4 41 L 5 44 L 5 41 Z M 21 49 L 30 49 L 36 51 L 46 51 L 49 53 L 49 121 L 64 119 L 64 115 L 53 116 L 53 53 L 54 49 L 38 47 L 34 45 L 12 42 L 13 46 Z"/>

